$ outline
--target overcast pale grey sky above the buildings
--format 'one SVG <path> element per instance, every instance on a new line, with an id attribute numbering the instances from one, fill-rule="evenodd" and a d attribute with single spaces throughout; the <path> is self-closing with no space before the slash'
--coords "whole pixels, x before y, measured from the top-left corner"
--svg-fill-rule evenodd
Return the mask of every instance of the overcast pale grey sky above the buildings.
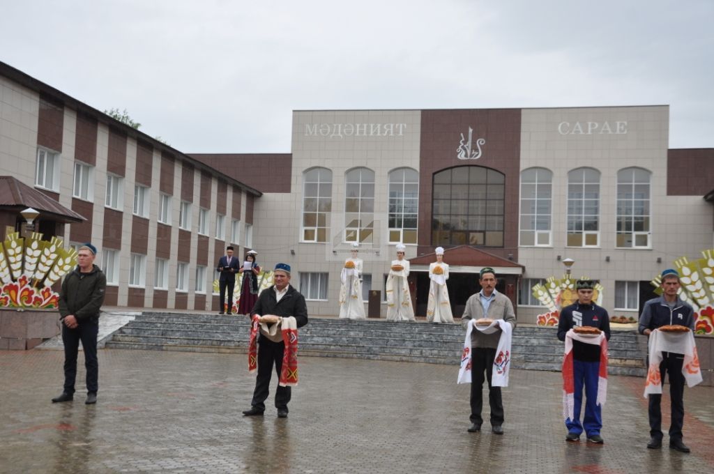
<path id="1" fill-rule="evenodd" d="M 714 147 L 712 0 L 0 0 L 0 61 L 186 153 L 289 152 L 293 110 L 651 104 Z"/>

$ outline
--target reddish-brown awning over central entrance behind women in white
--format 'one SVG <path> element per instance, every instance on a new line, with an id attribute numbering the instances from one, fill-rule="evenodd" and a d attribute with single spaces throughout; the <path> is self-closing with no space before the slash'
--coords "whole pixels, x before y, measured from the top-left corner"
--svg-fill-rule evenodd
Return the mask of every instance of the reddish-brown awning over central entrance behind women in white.
<path id="1" fill-rule="evenodd" d="M 411 258 L 411 271 L 428 271 L 429 264 L 436 261 L 435 253 Z M 520 263 L 501 258 L 480 248 L 458 246 L 444 251 L 444 263 L 448 263 L 449 273 L 478 273 L 483 267 L 491 267 L 497 276 L 523 275 L 526 267 Z"/>

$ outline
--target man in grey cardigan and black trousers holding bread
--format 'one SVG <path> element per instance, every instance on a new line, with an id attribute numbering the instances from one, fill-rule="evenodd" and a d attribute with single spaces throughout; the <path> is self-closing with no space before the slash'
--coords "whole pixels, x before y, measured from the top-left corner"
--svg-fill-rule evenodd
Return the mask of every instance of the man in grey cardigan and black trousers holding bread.
<path id="1" fill-rule="evenodd" d="M 496 291 L 496 273 L 493 268 L 481 269 L 478 283 L 481 291 L 472 295 L 466 301 L 466 309 L 461 316 L 461 326 L 468 328 L 469 324 L 481 318 L 503 319 L 516 328 L 516 313 L 513 311 L 511 300 Z M 473 321 L 472 321 L 473 320 Z M 486 373 L 488 380 L 488 403 L 491 405 L 491 431 L 496 435 L 503 435 L 503 400 L 501 400 L 501 387 L 491 385 L 493 373 L 493 360 L 496 359 L 496 348 L 501 330 L 495 333 L 484 334 L 481 331 L 471 333 L 471 427 L 469 433 L 481 431 L 481 409 L 483 408 L 483 380 Z"/>

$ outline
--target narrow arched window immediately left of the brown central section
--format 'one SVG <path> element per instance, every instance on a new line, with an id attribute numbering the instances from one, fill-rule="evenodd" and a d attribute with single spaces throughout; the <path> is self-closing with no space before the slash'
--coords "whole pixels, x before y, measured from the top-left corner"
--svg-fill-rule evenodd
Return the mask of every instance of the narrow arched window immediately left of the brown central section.
<path id="1" fill-rule="evenodd" d="M 397 168 L 389 173 L 389 243 L 416 243 L 419 173 Z"/>

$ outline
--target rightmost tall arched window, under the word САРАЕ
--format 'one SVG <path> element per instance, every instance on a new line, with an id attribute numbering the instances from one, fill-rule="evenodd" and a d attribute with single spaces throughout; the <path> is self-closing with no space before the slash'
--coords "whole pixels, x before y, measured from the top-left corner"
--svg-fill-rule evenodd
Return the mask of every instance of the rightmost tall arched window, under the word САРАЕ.
<path id="1" fill-rule="evenodd" d="M 617 243 L 620 248 L 650 248 L 650 176 L 642 168 L 618 171 Z"/>

